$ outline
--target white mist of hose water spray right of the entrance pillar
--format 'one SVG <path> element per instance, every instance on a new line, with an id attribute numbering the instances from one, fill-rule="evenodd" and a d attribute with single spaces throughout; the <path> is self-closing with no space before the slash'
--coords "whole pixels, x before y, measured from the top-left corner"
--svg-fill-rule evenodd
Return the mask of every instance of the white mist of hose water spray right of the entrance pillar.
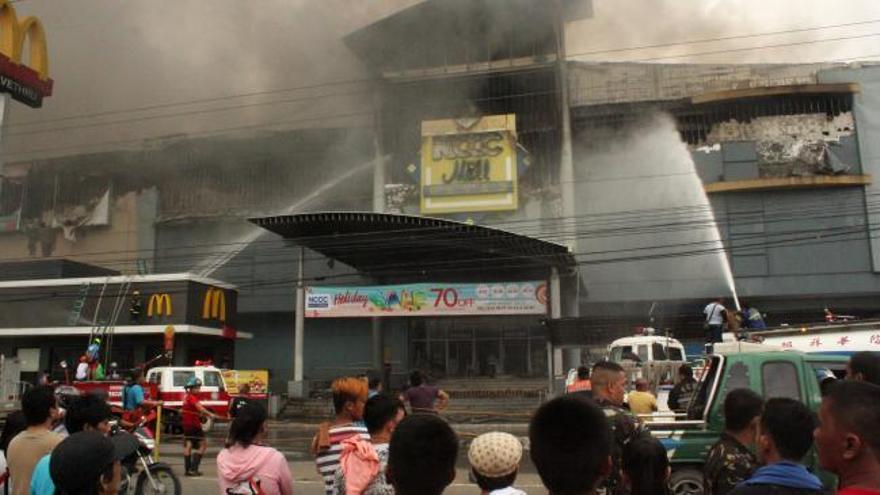
<path id="1" fill-rule="evenodd" d="M 593 301 L 728 295 L 702 183 L 672 119 L 576 136 L 580 261 Z M 674 255 L 664 257 L 666 255 Z M 636 257 L 643 260 L 621 261 Z"/>

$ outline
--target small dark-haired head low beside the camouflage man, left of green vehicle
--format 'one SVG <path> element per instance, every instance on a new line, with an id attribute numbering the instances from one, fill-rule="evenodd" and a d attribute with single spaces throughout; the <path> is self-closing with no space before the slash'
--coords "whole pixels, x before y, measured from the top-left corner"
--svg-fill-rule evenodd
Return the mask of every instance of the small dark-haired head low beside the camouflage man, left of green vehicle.
<path id="1" fill-rule="evenodd" d="M 626 444 L 620 463 L 630 495 L 663 495 L 672 468 L 666 447 L 654 437 L 639 437 Z"/>

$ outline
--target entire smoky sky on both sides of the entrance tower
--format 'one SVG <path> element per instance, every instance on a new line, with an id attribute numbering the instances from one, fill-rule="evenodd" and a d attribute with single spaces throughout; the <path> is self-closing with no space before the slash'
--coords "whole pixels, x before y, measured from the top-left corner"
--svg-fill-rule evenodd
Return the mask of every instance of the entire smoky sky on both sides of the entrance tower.
<path id="1" fill-rule="evenodd" d="M 183 133 L 369 125 L 366 72 L 341 39 L 415 3 L 19 0 L 19 16 L 45 25 L 55 92 L 41 109 L 11 105 L 3 158 L 136 148 Z M 850 25 L 751 36 L 840 24 Z M 733 36 L 749 37 L 693 43 Z M 836 38 L 847 39 L 819 41 Z M 592 61 L 880 59 L 878 39 L 877 0 L 594 0 L 593 17 L 567 27 L 569 57 Z"/>

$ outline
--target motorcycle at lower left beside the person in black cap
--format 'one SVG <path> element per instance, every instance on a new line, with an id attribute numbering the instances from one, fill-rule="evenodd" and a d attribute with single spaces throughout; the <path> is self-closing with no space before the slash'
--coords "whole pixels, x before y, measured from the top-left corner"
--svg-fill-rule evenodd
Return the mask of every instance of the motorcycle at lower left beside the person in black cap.
<path id="1" fill-rule="evenodd" d="M 119 493 L 147 495 L 181 493 L 180 480 L 171 466 L 153 458 L 156 442 L 144 426 L 137 425 L 129 433 L 114 424 L 110 440 L 122 459 L 122 483 Z"/>

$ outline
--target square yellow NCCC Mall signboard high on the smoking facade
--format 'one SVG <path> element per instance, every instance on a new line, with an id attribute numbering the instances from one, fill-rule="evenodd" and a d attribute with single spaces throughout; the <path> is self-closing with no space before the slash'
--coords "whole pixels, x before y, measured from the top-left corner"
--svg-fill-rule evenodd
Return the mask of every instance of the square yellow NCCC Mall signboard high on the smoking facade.
<path id="1" fill-rule="evenodd" d="M 517 208 L 516 116 L 422 122 L 421 212 Z"/>

